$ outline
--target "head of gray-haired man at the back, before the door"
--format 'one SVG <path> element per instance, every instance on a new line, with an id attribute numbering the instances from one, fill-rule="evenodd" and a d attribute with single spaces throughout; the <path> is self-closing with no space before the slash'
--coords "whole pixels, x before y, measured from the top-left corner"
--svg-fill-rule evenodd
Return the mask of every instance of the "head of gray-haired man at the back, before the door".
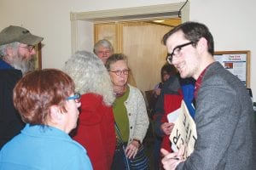
<path id="1" fill-rule="evenodd" d="M 106 39 L 99 40 L 95 43 L 93 52 L 102 59 L 103 64 L 106 64 L 107 59 L 113 54 L 113 46 Z"/>

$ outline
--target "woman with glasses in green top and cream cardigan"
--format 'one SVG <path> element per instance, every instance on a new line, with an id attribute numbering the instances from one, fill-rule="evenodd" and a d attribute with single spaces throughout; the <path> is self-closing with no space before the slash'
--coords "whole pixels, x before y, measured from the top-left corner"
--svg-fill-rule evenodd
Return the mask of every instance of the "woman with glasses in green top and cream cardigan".
<path id="1" fill-rule="evenodd" d="M 125 54 L 113 54 L 106 62 L 113 92 L 116 99 L 113 104 L 114 119 L 125 143 L 125 156 L 136 158 L 148 130 L 148 114 L 143 94 L 139 89 L 127 83 L 129 67 Z M 118 134 L 117 134 L 118 136 Z M 120 155 L 122 145 L 117 142 L 112 169 L 125 169 L 124 158 Z"/>

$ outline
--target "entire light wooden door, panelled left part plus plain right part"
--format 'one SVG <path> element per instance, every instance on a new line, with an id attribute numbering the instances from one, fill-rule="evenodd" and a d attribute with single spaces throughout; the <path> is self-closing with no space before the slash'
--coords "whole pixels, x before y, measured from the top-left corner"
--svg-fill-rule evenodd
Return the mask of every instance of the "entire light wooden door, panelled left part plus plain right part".
<path id="1" fill-rule="evenodd" d="M 133 76 L 129 83 L 144 92 L 160 82 L 160 69 L 166 63 L 161 39 L 171 29 L 143 21 L 95 24 L 95 41 L 106 38 L 113 43 L 114 53 L 127 55 Z"/>

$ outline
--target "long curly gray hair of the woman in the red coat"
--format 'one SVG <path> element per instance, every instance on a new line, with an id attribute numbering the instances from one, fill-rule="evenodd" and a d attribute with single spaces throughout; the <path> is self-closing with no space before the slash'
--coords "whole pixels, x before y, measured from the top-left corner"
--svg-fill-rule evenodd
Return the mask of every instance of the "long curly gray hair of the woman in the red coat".
<path id="1" fill-rule="evenodd" d="M 67 60 L 62 70 L 73 78 L 77 92 L 99 94 L 106 105 L 113 104 L 112 82 L 102 60 L 95 54 L 78 51 Z"/>

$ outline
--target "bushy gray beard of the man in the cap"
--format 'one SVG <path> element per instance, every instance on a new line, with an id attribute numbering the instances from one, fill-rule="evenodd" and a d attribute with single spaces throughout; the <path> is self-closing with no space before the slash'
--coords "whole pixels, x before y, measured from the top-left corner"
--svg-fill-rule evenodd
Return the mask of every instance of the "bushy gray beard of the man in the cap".
<path id="1" fill-rule="evenodd" d="M 15 69 L 20 70 L 22 74 L 26 74 L 28 71 L 34 71 L 35 70 L 35 57 L 32 57 L 32 59 L 26 60 L 22 59 L 20 55 L 18 55 L 12 64 Z"/>

